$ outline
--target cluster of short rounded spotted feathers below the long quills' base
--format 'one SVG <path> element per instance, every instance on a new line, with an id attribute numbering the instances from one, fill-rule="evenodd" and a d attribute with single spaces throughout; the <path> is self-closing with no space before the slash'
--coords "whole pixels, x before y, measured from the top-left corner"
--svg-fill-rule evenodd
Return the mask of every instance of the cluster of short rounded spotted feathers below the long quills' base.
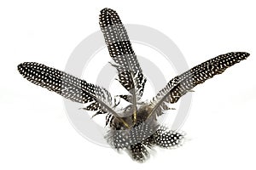
<path id="1" fill-rule="evenodd" d="M 154 145 L 174 149 L 181 146 L 184 140 L 183 133 L 168 130 L 163 126 L 154 132 L 154 128 L 144 122 L 132 127 L 131 130 L 112 131 L 112 133 L 113 148 L 128 150 L 135 161 L 145 161 L 149 157 L 148 149 Z"/>

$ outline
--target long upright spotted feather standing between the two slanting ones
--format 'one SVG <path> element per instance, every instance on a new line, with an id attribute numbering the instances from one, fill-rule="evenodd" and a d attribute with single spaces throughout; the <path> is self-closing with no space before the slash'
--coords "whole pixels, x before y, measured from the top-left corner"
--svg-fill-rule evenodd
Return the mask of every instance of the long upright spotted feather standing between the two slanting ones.
<path id="1" fill-rule="evenodd" d="M 134 121 L 137 118 L 137 101 L 143 95 L 147 79 L 134 53 L 125 26 L 119 15 L 110 8 L 103 8 L 100 14 L 100 26 L 112 57 L 112 64 L 118 71 L 119 82 L 131 95 L 120 95 L 121 98 L 131 102 Z"/>

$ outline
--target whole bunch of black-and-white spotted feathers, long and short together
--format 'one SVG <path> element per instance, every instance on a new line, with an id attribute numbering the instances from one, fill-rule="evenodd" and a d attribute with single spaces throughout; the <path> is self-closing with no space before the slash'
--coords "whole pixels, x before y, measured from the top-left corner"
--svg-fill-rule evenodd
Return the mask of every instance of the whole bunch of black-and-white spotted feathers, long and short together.
<path id="1" fill-rule="evenodd" d="M 118 72 L 118 81 L 130 93 L 119 95 L 121 99 L 131 103 L 125 109 L 117 108 L 117 99 L 107 89 L 63 71 L 34 62 L 22 63 L 18 65 L 18 70 L 36 85 L 74 102 L 88 104 L 84 110 L 95 111 L 94 116 L 106 114 L 106 126 L 110 127 L 105 136 L 108 143 L 116 150 L 126 150 L 135 161 L 145 161 L 154 146 L 171 149 L 183 144 L 183 133 L 169 130 L 157 121 L 163 111 L 170 109 L 167 103 L 176 103 L 196 85 L 223 73 L 249 56 L 245 52 L 236 52 L 209 59 L 174 77 L 149 103 L 143 103 L 140 100 L 147 79 L 143 76 L 119 15 L 110 8 L 102 9 L 100 26 L 113 59 L 111 65 Z"/>

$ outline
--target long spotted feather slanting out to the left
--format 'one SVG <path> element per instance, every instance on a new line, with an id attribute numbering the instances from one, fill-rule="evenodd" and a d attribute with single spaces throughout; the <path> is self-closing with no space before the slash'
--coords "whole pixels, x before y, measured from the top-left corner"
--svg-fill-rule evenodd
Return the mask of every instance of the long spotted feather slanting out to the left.
<path id="1" fill-rule="evenodd" d="M 108 112 L 113 116 L 119 116 L 119 113 L 114 110 L 116 106 L 114 100 L 105 88 L 35 62 L 18 65 L 18 71 L 28 81 L 60 94 L 66 99 L 83 104 L 90 102 L 90 105 L 84 109 L 97 111 L 96 115 Z"/>

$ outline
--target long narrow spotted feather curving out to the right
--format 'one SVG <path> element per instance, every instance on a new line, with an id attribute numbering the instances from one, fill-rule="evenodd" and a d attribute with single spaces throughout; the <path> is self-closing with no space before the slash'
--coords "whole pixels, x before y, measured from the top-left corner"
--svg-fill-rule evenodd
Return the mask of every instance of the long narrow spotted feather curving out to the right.
<path id="1" fill-rule="evenodd" d="M 160 92 L 152 99 L 151 115 L 160 116 L 163 110 L 168 109 L 167 103 L 176 103 L 184 94 L 187 94 L 196 85 L 201 84 L 207 79 L 215 75 L 223 73 L 227 68 L 243 59 L 247 59 L 250 54 L 244 52 L 222 54 L 213 59 L 209 59 L 201 65 L 197 65 L 184 72 L 180 76 L 174 77 L 167 83 L 166 87 L 161 89 Z"/>

